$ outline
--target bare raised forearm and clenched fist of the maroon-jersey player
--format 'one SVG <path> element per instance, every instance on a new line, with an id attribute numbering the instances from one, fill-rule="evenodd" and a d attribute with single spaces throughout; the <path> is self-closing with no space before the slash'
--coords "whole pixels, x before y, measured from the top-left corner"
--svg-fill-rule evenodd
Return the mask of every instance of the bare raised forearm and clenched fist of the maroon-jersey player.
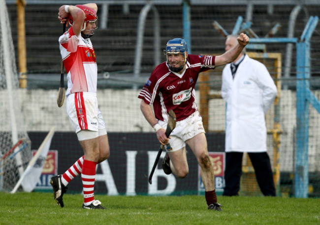
<path id="1" fill-rule="evenodd" d="M 237 40 L 237 45 L 224 52 L 224 54 L 216 56 L 215 66 L 222 66 L 228 63 L 232 63 L 239 56 L 243 48 L 249 43 L 249 37 L 243 33 L 239 35 Z"/>

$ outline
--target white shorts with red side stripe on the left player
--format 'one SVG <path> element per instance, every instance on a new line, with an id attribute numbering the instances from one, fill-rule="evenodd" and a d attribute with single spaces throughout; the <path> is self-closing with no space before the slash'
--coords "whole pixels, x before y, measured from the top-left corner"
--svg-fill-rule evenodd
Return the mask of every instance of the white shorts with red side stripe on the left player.
<path id="1" fill-rule="evenodd" d="M 94 131 L 83 132 L 88 137 L 98 137 L 107 133 L 102 113 L 98 109 L 96 93 L 77 92 L 70 94 L 66 100 L 66 112 L 76 133 L 81 130 Z M 81 139 L 85 140 L 84 138 Z"/>

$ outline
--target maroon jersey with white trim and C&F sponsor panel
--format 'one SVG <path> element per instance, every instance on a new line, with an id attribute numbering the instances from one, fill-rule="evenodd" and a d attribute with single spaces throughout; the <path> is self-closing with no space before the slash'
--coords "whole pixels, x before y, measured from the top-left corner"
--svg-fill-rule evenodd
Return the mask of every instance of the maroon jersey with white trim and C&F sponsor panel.
<path id="1" fill-rule="evenodd" d="M 169 110 L 183 120 L 197 110 L 194 86 L 199 73 L 215 68 L 215 56 L 189 55 L 187 69 L 181 75 L 169 70 L 166 62 L 158 65 L 138 98 L 153 105 L 155 116 L 167 121 Z"/>

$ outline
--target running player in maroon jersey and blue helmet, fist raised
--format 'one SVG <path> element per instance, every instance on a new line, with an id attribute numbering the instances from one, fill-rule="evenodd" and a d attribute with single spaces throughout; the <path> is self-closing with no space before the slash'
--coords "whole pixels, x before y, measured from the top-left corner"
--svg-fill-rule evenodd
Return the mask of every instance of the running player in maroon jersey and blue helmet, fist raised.
<path id="1" fill-rule="evenodd" d="M 240 34 L 238 44 L 219 56 L 189 55 L 187 43 L 182 38 L 167 42 L 164 53 L 166 62 L 158 65 L 142 88 L 138 98 L 141 111 L 155 129 L 161 145 L 170 144 L 162 168 L 165 174 L 173 173 L 184 178 L 189 173 L 186 144 L 192 149 L 201 168 L 208 209 L 222 211 L 217 203 L 214 171 L 207 150 L 207 140 L 202 118 L 195 104 L 195 83 L 199 73 L 233 62 L 249 42 L 249 37 Z M 152 110 L 153 107 L 153 110 Z M 168 112 L 173 110 L 177 117 L 170 138 L 165 136 Z"/>

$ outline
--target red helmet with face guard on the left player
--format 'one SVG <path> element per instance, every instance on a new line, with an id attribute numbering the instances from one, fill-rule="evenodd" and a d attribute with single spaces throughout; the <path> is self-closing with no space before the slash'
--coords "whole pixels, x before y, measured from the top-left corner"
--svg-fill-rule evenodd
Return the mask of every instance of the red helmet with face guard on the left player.
<path id="1" fill-rule="evenodd" d="M 93 8 L 88 7 L 86 5 L 81 5 L 81 4 L 76 5 L 76 7 L 82 9 L 82 11 L 84 11 L 84 13 L 85 13 L 85 20 L 83 23 L 83 27 L 81 29 L 81 36 L 83 38 L 90 38 L 95 34 L 95 31 L 98 28 L 98 17 L 96 16 L 96 10 L 94 10 Z M 72 26 L 73 18 L 71 16 L 71 14 L 69 16 L 69 23 Z M 88 31 L 91 31 L 90 34 L 84 34 L 83 31 L 86 30 L 88 23 L 95 23 L 96 27 L 94 29 L 88 30 Z"/>

